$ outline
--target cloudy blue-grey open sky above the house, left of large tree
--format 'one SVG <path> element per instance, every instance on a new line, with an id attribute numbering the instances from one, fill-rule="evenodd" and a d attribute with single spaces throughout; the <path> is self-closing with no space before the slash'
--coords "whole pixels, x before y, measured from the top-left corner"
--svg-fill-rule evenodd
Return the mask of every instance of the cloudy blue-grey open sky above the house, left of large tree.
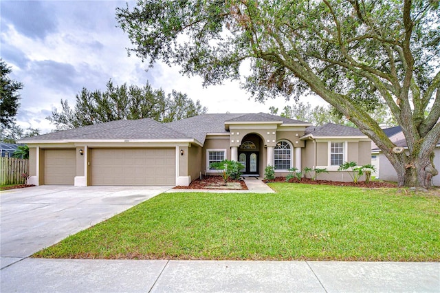
<path id="1" fill-rule="evenodd" d="M 293 100 L 250 99 L 239 82 L 203 88 L 198 76 L 181 76 L 178 67 L 156 63 L 148 69 L 136 56 L 128 56 L 129 37 L 118 28 L 115 8 L 130 7 L 135 1 L 0 1 L 0 57 L 11 67 L 10 78 L 23 83 L 17 124 L 39 129 L 41 134 L 55 129 L 45 119 L 52 110 L 61 110 L 61 99 L 74 107 L 83 87 L 105 89 L 109 79 L 115 85 L 145 85 L 172 89 L 200 100 L 208 113 L 280 111 Z M 148 71 L 146 71 L 148 69 Z M 323 105 L 317 97 L 303 102 Z"/>

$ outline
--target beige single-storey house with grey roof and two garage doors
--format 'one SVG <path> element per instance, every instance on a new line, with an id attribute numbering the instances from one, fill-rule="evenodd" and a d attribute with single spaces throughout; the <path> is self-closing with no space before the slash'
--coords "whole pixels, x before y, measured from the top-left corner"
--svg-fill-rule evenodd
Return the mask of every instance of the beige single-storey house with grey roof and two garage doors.
<path id="1" fill-rule="evenodd" d="M 327 168 L 320 179 L 349 181 L 339 164 L 371 162 L 371 140 L 358 129 L 310 123 L 266 113 L 203 114 L 161 124 L 146 118 L 118 120 L 48 133 L 30 147 L 30 184 L 181 185 L 216 175 L 210 163 L 245 165 L 245 175 L 287 169 Z"/>

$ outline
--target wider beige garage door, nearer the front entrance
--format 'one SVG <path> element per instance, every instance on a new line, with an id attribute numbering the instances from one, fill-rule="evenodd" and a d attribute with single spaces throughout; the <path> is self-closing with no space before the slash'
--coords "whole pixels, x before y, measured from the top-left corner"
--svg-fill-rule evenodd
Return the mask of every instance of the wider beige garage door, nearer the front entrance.
<path id="1" fill-rule="evenodd" d="M 175 149 L 92 149 L 91 185 L 175 185 Z"/>

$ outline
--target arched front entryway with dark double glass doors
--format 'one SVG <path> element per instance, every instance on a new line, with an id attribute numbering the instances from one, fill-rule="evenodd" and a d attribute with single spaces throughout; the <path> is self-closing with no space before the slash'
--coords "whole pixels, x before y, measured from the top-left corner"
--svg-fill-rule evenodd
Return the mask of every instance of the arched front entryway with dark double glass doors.
<path id="1" fill-rule="evenodd" d="M 259 175 L 261 166 L 261 154 L 263 154 L 263 143 L 259 135 L 250 133 L 241 140 L 239 147 L 239 162 L 244 168 L 243 175 Z"/>

